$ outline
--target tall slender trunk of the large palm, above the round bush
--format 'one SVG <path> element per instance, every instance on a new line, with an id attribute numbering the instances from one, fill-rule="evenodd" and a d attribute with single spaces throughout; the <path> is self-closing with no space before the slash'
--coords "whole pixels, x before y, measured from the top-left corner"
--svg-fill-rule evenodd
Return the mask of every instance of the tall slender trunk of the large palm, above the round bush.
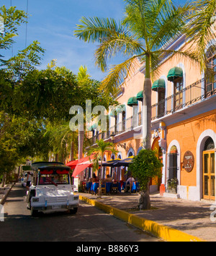
<path id="1" fill-rule="evenodd" d="M 145 60 L 145 82 L 143 88 L 143 148 L 151 148 L 151 80 L 150 56 Z"/>

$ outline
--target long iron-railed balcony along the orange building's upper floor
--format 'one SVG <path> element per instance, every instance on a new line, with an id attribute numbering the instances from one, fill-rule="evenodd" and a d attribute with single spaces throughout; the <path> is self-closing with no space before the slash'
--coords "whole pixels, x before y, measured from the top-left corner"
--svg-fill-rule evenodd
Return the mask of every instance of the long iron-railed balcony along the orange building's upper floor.
<path id="1" fill-rule="evenodd" d="M 199 80 L 194 84 L 187 86 L 178 93 L 165 98 L 152 106 L 152 121 L 160 118 L 166 118 L 171 114 L 177 113 L 181 110 L 188 109 L 194 106 L 196 103 L 206 101 L 208 98 L 212 98 L 212 95 L 216 94 L 216 85 L 212 84 L 212 88 L 205 90 L 205 80 Z M 209 103 L 207 103 L 209 104 Z M 125 121 L 122 121 L 112 127 L 109 127 L 107 132 L 98 132 L 91 138 L 92 145 L 96 140 L 109 140 L 110 135 L 114 132 L 114 135 L 120 137 L 120 140 L 130 137 L 128 134 L 134 131 L 135 128 L 142 126 L 142 113 L 131 116 Z M 121 136 L 120 136 L 121 135 Z"/>

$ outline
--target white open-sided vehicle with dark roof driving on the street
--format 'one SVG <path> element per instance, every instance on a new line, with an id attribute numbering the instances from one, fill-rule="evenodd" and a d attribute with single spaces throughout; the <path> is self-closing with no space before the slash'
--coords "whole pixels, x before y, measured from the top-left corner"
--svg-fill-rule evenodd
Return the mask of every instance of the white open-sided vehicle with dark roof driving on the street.
<path id="1" fill-rule="evenodd" d="M 27 208 L 32 216 L 37 213 L 78 210 L 78 195 L 74 195 L 69 171 L 71 168 L 63 163 L 32 163 L 34 182 L 27 192 Z"/>

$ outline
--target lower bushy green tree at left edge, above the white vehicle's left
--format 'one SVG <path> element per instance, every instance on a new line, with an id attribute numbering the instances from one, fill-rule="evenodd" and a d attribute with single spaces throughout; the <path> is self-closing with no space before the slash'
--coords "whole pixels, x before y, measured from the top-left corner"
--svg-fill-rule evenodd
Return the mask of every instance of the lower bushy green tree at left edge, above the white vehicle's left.
<path id="1" fill-rule="evenodd" d="M 45 155 L 48 141 L 43 137 L 44 127 L 37 120 L 0 112 L 0 174 L 9 173 L 25 158 Z"/>

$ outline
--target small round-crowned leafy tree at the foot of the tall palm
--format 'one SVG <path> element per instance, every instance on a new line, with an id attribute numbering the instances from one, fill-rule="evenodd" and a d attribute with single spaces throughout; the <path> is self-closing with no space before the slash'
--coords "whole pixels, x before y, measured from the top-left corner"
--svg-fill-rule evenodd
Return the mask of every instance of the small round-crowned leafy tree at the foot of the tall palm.
<path id="1" fill-rule="evenodd" d="M 153 150 L 140 150 L 132 159 L 129 170 L 140 183 L 139 207 L 142 209 L 150 209 L 149 182 L 151 178 L 161 178 L 161 167 L 163 163 L 158 160 Z"/>

